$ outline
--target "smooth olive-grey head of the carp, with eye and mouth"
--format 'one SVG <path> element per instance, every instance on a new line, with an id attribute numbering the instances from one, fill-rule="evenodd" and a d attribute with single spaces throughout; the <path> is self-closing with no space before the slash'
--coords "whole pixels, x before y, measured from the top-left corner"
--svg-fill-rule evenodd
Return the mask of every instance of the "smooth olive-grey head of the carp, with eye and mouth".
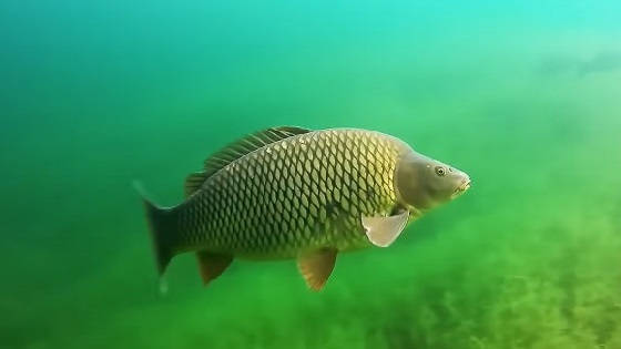
<path id="1" fill-rule="evenodd" d="M 397 197 L 419 211 L 449 202 L 470 188 L 470 177 L 460 170 L 409 150 L 395 170 Z"/>

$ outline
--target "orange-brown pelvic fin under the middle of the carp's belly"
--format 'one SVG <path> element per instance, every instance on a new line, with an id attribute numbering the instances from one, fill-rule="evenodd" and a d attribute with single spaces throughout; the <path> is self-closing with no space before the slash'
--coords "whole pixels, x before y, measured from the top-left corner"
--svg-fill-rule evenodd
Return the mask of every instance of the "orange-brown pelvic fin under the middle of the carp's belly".
<path id="1" fill-rule="evenodd" d="M 312 290 L 318 291 L 326 285 L 334 269 L 336 254 L 335 248 L 323 248 L 297 258 L 299 274 Z"/>

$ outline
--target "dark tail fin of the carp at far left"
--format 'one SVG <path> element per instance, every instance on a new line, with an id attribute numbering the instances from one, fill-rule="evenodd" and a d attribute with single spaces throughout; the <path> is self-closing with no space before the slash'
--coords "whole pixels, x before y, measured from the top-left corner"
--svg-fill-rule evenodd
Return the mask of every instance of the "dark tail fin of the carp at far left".
<path id="1" fill-rule="evenodd" d="M 151 233 L 151 242 L 155 254 L 155 265 L 160 276 L 166 270 L 166 266 L 174 256 L 173 238 L 175 236 L 175 220 L 171 211 L 159 207 L 153 204 L 146 195 L 140 183 L 134 183 L 134 187 L 141 194 L 146 213 L 146 222 Z"/>

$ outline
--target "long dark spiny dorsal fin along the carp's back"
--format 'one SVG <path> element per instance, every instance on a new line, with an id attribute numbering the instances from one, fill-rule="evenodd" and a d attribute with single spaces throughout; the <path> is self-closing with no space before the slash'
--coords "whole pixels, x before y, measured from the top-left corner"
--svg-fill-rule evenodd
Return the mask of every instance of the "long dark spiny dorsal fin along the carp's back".
<path id="1" fill-rule="evenodd" d="M 204 170 L 202 172 L 192 173 L 187 176 L 185 179 L 185 196 L 187 197 L 200 189 L 208 177 L 237 158 L 259 150 L 267 144 L 276 143 L 278 141 L 308 132 L 312 132 L 312 130 L 295 126 L 271 127 L 252 133 L 237 142 L 227 145 L 205 160 Z"/>

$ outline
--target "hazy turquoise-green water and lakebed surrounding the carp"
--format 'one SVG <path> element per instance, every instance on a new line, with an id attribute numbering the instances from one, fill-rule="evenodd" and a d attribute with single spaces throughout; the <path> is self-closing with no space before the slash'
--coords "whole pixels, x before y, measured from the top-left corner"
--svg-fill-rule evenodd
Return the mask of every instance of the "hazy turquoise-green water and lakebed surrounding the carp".
<path id="1" fill-rule="evenodd" d="M 619 1 L 204 2 L 0 4 L 0 347 L 621 348 Z M 132 181 L 176 204 L 274 125 L 389 133 L 474 187 L 319 294 L 182 255 L 160 295 Z"/>

